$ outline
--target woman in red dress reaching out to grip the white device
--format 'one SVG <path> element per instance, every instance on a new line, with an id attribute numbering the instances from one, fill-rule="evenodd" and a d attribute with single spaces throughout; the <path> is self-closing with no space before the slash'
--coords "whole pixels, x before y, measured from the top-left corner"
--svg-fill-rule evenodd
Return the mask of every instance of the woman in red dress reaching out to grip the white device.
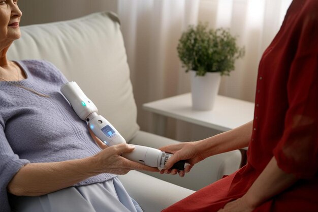
<path id="1" fill-rule="evenodd" d="M 254 119 L 213 137 L 162 147 L 190 166 L 248 146 L 247 164 L 163 212 L 318 211 L 318 1 L 294 0 L 264 52 Z M 211 164 L 213 165 L 213 164 Z"/>

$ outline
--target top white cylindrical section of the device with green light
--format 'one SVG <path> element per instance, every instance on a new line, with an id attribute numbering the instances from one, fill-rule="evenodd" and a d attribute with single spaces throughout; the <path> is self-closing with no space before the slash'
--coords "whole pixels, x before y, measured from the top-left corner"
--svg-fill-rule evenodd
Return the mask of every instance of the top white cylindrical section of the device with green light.
<path id="1" fill-rule="evenodd" d="M 98 111 L 94 103 L 86 97 L 76 82 L 67 82 L 60 90 L 82 120 L 86 120 L 86 117 L 92 112 Z"/>

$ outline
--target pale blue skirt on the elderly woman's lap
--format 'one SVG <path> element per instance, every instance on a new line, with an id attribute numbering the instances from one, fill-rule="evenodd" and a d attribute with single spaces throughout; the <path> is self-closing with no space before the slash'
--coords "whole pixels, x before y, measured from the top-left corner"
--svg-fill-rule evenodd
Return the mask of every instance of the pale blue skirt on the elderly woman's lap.
<path id="1" fill-rule="evenodd" d="M 13 212 L 142 212 L 117 177 L 38 197 L 11 196 Z"/>

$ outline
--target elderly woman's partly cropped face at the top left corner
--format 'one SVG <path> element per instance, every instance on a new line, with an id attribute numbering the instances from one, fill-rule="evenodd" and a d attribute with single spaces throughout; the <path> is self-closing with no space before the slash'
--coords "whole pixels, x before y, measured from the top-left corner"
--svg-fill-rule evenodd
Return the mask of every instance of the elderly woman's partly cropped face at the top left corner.
<path id="1" fill-rule="evenodd" d="M 19 22 L 21 11 L 17 0 L 0 0 L 0 43 L 12 42 L 21 36 Z"/>

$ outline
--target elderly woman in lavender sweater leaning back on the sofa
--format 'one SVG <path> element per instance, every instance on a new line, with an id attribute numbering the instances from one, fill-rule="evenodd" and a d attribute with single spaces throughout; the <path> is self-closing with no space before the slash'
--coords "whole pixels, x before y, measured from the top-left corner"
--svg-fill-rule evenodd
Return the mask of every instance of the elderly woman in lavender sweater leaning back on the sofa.
<path id="1" fill-rule="evenodd" d="M 157 169 L 121 157 L 128 144 L 92 138 L 52 64 L 7 59 L 21 15 L 16 0 L 0 1 L 0 211 L 142 211 L 114 174 Z"/>

